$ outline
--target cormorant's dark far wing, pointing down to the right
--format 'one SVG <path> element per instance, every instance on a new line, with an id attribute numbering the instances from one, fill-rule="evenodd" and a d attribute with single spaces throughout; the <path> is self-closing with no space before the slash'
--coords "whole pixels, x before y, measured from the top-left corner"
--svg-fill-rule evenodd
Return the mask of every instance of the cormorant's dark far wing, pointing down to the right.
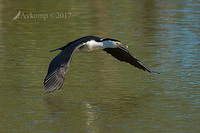
<path id="1" fill-rule="evenodd" d="M 121 46 L 119 46 L 117 48 L 105 48 L 103 50 L 106 51 L 107 53 L 111 54 L 116 59 L 127 62 L 139 69 L 148 71 L 150 73 L 158 73 L 158 72 L 151 71 L 149 68 L 144 66 L 142 64 L 142 62 L 140 62 L 135 56 L 133 56 L 127 49 L 125 49 Z"/>

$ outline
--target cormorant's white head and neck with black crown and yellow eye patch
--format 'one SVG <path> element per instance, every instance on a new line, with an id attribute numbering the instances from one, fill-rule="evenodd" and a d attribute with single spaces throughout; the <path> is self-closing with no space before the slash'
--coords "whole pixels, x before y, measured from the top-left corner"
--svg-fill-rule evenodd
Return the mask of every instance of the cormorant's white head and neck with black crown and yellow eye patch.
<path id="1" fill-rule="evenodd" d="M 128 48 L 127 45 L 124 45 L 121 43 L 121 41 L 116 40 L 116 39 L 111 39 L 111 38 L 105 38 L 102 40 L 103 45 L 105 47 L 110 47 L 110 48 L 116 48 L 116 47 L 123 47 L 123 48 Z"/>

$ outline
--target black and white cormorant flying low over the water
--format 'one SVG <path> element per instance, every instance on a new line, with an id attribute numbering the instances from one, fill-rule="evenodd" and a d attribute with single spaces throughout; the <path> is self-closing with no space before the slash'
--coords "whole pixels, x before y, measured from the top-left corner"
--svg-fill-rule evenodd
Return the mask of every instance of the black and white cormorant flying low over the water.
<path id="1" fill-rule="evenodd" d="M 123 45 L 119 40 L 111 38 L 102 39 L 96 36 L 85 36 L 72 41 L 61 48 L 51 50 L 50 52 L 56 50 L 62 51 L 49 64 L 47 76 L 44 79 L 45 92 L 53 92 L 62 87 L 72 56 L 77 49 L 82 51 L 102 49 L 120 61 L 127 62 L 149 73 L 159 74 L 158 72 L 151 71 L 149 68 L 144 66 L 126 49 L 126 47 L 127 46 Z"/>

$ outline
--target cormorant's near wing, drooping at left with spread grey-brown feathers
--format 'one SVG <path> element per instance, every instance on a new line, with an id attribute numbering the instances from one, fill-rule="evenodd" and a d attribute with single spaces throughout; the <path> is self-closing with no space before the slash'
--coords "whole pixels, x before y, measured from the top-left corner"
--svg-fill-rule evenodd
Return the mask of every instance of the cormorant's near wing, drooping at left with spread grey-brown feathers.
<path id="1" fill-rule="evenodd" d="M 49 64 L 47 76 L 44 79 L 45 92 L 59 90 L 65 80 L 72 55 L 76 49 L 84 44 L 71 45 L 61 51 Z"/>

